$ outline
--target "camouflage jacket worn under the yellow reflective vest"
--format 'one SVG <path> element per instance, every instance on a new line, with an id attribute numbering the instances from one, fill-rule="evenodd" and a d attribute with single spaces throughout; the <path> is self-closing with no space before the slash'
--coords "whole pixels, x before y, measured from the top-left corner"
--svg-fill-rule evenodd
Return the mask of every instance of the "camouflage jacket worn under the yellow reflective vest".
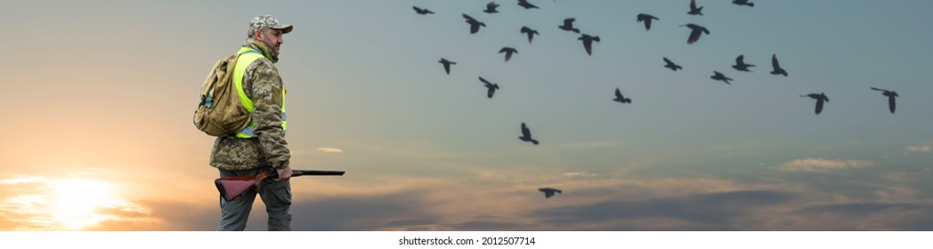
<path id="1" fill-rule="evenodd" d="M 285 143 L 282 129 L 282 77 L 273 64 L 278 54 L 264 43 L 249 38 L 244 48 L 262 51 L 259 58 L 246 67 L 243 88 L 253 101 L 255 109 L 250 114 L 256 138 L 242 139 L 219 136 L 211 149 L 211 166 L 222 170 L 239 171 L 259 167 L 284 167 L 288 165 L 290 152 Z"/>

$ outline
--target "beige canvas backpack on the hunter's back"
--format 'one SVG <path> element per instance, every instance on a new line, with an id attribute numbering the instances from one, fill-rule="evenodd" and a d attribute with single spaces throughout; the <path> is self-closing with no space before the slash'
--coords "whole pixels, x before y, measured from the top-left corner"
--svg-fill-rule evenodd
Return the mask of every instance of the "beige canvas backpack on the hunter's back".
<path id="1" fill-rule="evenodd" d="M 233 66 L 239 54 L 214 64 L 201 86 L 201 104 L 194 111 L 194 126 L 212 136 L 236 134 L 249 124 L 249 111 L 240 102 L 233 83 Z"/>

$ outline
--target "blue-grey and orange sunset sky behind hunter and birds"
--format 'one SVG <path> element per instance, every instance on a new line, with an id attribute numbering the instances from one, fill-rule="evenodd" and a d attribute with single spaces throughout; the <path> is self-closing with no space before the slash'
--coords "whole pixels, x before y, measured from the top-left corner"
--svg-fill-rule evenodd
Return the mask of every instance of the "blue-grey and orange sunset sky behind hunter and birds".
<path id="1" fill-rule="evenodd" d="M 215 229 L 191 118 L 259 14 L 295 26 L 292 167 L 347 172 L 292 179 L 295 230 L 933 230 L 933 2 L 495 2 L 6 1 L 0 230 Z"/>

